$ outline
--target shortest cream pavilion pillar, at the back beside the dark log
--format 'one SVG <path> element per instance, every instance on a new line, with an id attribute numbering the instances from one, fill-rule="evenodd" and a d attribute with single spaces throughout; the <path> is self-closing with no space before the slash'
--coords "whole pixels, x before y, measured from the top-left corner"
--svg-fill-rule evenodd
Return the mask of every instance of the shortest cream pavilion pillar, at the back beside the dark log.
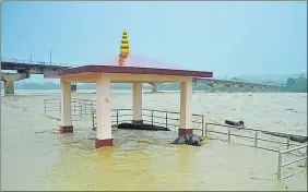
<path id="1" fill-rule="evenodd" d="M 132 123 L 142 124 L 142 83 L 133 82 L 132 88 L 133 119 Z"/>

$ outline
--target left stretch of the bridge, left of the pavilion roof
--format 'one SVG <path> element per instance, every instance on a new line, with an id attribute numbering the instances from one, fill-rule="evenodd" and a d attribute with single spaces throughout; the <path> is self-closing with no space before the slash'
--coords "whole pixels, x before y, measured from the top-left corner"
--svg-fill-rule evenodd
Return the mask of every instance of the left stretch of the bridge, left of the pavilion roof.
<path id="1" fill-rule="evenodd" d="M 12 70 L 16 73 L 5 73 L 1 71 L 1 81 L 4 82 L 4 94 L 14 94 L 14 82 L 28 79 L 31 74 L 44 74 L 46 72 L 59 71 L 72 68 L 64 63 L 49 63 L 32 60 L 1 59 L 1 70 Z M 71 85 L 72 91 L 76 85 Z"/>

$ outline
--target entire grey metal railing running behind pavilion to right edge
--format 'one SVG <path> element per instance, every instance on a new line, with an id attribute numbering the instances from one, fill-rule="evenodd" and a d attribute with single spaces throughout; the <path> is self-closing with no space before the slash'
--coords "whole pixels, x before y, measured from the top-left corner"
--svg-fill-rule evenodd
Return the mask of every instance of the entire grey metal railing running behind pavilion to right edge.
<path id="1" fill-rule="evenodd" d="M 79 119 L 81 118 L 87 118 L 88 116 L 92 117 L 92 128 L 96 129 L 97 122 L 96 122 L 96 103 L 95 100 L 90 100 L 90 99 L 80 99 L 80 98 L 73 98 L 72 99 L 72 116 L 78 117 Z M 49 111 L 57 111 L 58 113 L 61 112 L 61 105 L 60 105 L 60 99 L 45 99 L 44 100 L 44 113 L 47 115 Z M 165 128 L 179 128 L 179 112 L 174 112 L 174 111 L 164 111 L 164 110 L 155 110 L 155 109 L 143 109 L 143 121 L 151 123 L 151 124 L 157 124 L 157 125 L 163 125 Z M 126 118 L 123 118 L 126 117 Z M 127 118 L 129 117 L 129 118 Z M 264 139 L 265 135 L 269 135 L 270 133 L 277 134 L 279 132 L 274 131 L 264 131 L 264 130 L 259 130 L 259 129 L 240 129 L 240 134 L 234 134 L 233 132 L 239 131 L 238 128 L 233 127 L 233 125 L 227 125 L 227 124 L 218 124 L 218 123 L 209 123 L 204 122 L 204 116 L 203 115 L 192 115 L 192 128 L 196 131 L 201 131 L 202 136 L 209 136 L 211 139 L 214 139 L 214 135 L 211 135 L 212 133 L 214 134 L 220 134 L 220 135 L 226 135 L 226 141 L 229 143 L 235 143 L 232 142 L 232 136 L 233 140 L 235 139 L 249 139 L 252 140 L 253 144 L 242 144 L 242 143 L 235 143 L 235 144 L 240 144 L 240 145 L 246 145 L 246 146 L 251 146 L 254 148 L 261 148 L 261 149 L 266 149 L 271 152 L 279 153 L 279 167 L 277 167 L 277 179 L 286 179 L 297 172 L 300 172 L 303 170 L 294 171 L 287 176 L 282 176 L 282 168 L 294 165 L 295 163 L 303 161 L 304 159 L 307 160 L 307 142 L 305 145 L 296 143 L 296 142 L 291 142 L 291 136 L 303 136 L 303 135 L 296 135 L 296 134 L 287 134 L 284 133 L 287 137 L 282 139 L 276 135 L 270 135 L 275 139 L 280 140 L 286 140 L 286 141 L 279 141 L 279 140 L 268 140 Z M 111 110 L 111 122 L 112 124 L 119 124 L 120 122 L 131 122 L 132 121 L 132 109 L 114 109 Z M 224 132 L 222 129 L 218 131 L 210 130 L 209 127 L 218 127 L 218 128 L 226 128 L 226 131 Z M 252 132 L 252 135 L 245 135 L 247 132 Z M 266 134 L 265 134 L 265 133 Z M 263 135 L 261 137 L 261 134 Z M 282 134 L 282 133 L 279 133 Z M 285 148 L 272 148 L 268 146 L 260 146 L 260 142 L 269 142 L 269 143 L 275 143 L 280 144 Z M 291 148 L 293 147 L 293 148 Z M 284 154 L 292 154 L 293 156 L 298 156 L 298 153 L 293 153 L 295 151 L 299 151 L 306 147 L 305 153 L 300 153 L 300 158 L 282 164 L 282 158 Z M 307 167 L 307 161 L 305 164 L 305 167 Z"/>

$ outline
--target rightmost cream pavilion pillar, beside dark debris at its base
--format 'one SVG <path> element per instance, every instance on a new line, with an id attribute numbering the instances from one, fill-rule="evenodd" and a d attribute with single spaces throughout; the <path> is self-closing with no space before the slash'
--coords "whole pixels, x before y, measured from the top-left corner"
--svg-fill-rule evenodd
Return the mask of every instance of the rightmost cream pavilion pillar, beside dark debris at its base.
<path id="1" fill-rule="evenodd" d="M 192 81 L 180 83 L 180 127 L 179 136 L 192 134 L 191 128 Z"/>

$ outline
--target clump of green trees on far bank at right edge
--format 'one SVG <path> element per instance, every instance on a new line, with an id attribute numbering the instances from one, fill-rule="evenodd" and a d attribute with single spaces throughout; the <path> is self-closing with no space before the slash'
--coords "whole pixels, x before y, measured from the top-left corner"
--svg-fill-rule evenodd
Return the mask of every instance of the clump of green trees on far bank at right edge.
<path id="1" fill-rule="evenodd" d="M 286 92 L 307 93 L 307 79 L 304 75 L 298 79 L 287 79 Z"/>

